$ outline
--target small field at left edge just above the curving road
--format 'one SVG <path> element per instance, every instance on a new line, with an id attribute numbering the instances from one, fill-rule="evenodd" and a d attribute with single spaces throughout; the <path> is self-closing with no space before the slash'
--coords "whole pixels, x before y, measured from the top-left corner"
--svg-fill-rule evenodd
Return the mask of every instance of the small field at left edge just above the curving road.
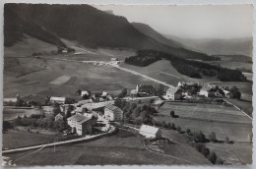
<path id="1" fill-rule="evenodd" d="M 49 135 L 33 134 L 15 130 L 8 130 L 3 133 L 3 149 L 49 143 L 53 141 L 54 136 Z"/>

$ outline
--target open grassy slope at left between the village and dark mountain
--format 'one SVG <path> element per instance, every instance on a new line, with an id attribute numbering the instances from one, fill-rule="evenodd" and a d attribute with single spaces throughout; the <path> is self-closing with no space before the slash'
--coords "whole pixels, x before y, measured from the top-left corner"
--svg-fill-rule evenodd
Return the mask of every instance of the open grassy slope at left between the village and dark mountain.
<path id="1" fill-rule="evenodd" d="M 148 80 L 139 76 L 134 76 L 111 67 L 75 62 L 70 64 L 70 62 L 51 60 L 51 58 L 63 58 L 109 61 L 112 56 L 121 60 L 125 56 L 132 55 L 134 53 L 133 50 L 86 49 L 89 52 L 83 55 L 22 58 L 32 54 L 33 48 L 36 49 L 35 51 L 38 50 L 37 48 L 50 51 L 54 46 L 34 38 L 29 38 L 12 47 L 5 48 L 4 97 L 14 97 L 17 93 L 21 95 L 42 93 L 75 97 L 75 92 L 78 88 L 107 90 L 112 93 L 119 93 L 123 87 L 134 88 L 136 84 L 148 83 Z M 9 64 L 8 66 L 8 59 L 15 56 L 17 56 L 15 58 L 17 62 L 14 62 L 12 58 L 13 60 L 10 63 L 13 65 L 10 66 Z M 70 77 L 70 80 L 65 84 L 50 84 L 50 82 L 61 76 Z"/>

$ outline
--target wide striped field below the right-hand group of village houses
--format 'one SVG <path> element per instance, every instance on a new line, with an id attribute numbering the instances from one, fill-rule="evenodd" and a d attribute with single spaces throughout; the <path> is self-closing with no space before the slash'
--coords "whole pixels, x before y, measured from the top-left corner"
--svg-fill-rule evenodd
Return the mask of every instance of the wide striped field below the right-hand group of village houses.
<path id="1" fill-rule="evenodd" d="M 173 110 L 179 118 L 171 118 Z M 214 104 L 164 103 L 159 110 L 164 117 L 155 117 L 157 121 L 174 123 L 183 131 L 202 131 L 206 136 L 216 133 L 217 139 L 224 141 L 249 141 L 252 134 L 252 121 L 233 107 Z"/>

